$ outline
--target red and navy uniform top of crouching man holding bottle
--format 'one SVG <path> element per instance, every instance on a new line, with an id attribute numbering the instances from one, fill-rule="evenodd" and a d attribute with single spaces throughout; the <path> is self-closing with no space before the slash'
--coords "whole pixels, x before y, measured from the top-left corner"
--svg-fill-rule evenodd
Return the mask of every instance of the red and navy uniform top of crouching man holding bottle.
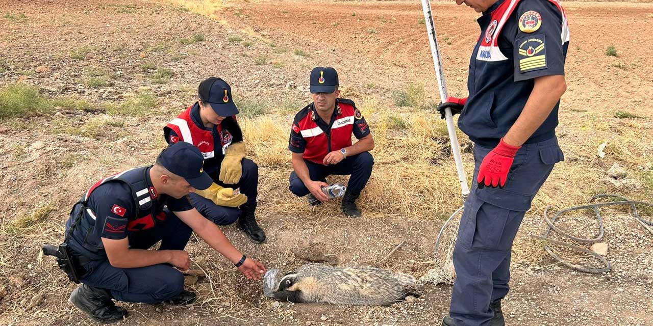
<path id="1" fill-rule="evenodd" d="M 288 149 L 293 153 L 304 153 L 304 160 L 324 164 L 323 159 L 328 153 L 351 146 L 351 134 L 357 139 L 370 134 L 370 127 L 353 101 L 336 99 L 336 108 L 328 126 L 321 121 L 311 103 L 295 115 Z"/>

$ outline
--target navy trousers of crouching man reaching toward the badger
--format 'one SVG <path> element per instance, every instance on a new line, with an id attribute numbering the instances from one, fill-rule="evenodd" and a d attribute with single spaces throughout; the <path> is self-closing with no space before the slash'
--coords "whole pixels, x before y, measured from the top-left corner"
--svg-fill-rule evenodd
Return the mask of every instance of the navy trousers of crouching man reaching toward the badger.
<path id="1" fill-rule="evenodd" d="M 183 250 L 193 230 L 172 212 L 154 228 L 129 237 L 129 247 L 148 249 L 161 241 L 159 250 Z M 108 289 L 114 299 L 131 303 L 159 303 L 177 297 L 183 289 L 183 275 L 168 264 L 138 268 L 113 267 L 107 259 L 84 265 L 80 281 L 95 288 Z"/>

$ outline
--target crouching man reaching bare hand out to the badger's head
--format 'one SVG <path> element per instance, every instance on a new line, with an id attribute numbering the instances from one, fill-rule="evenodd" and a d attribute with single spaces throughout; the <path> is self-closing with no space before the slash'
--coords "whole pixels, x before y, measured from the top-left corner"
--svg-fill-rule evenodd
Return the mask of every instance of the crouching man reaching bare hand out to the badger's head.
<path id="1" fill-rule="evenodd" d="M 64 242 L 81 269 L 75 281 L 82 284 L 70 297 L 75 306 L 95 321 L 112 323 L 127 316 L 112 299 L 192 303 L 196 295 L 183 289 L 178 269 L 189 268 L 183 248 L 193 231 L 247 278 L 261 277 L 264 266 L 234 248 L 187 200 L 187 194 L 213 182 L 203 163 L 197 147 L 180 142 L 164 149 L 153 166 L 123 171 L 91 186 L 66 223 Z M 159 241 L 159 250 L 147 250 Z"/>

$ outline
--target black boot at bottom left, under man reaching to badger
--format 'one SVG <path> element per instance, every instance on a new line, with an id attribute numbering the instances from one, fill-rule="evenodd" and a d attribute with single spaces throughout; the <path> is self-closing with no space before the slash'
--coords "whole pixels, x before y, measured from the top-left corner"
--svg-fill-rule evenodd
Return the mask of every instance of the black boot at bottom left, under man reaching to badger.
<path id="1" fill-rule="evenodd" d="M 108 324 L 121 321 L 129 316 L 125 308 L 116 306 L 111 299 L 111 293 L 108 290 L 81 284 L 72 291 L 68 301 L 86 312 L 91 319 Z"/>

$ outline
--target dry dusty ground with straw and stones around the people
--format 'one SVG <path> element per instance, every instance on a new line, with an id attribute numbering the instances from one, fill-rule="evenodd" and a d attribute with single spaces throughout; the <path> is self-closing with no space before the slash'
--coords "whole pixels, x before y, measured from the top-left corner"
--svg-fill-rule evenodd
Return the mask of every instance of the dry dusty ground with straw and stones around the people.
<path id="1" fill-rule="evenodd" d="M 562 100 L 558 134 L 567 160 L 535 199 L 518 235 L 512 291 L 504 303 L 507 323 L 653 325 L 653 243 L 639 224 L 620 212 L 609 215 L 606 239 L 613 271 L 601 275 L 554 265 L 528 237 L 543 228 L 546 205 L 562 209 L 600 192 L 653 199 L 653 60 L 648 55 L 653 50 L 653 5 L 569 2 L 565 8 L 572 35 L 569 89 Z M 2 288 L 7 291 L 0 298 L 2 325 L 90 323 L 67 303 L 73 286 L 52 259 L 39 261 L 39 245 L 60 241 L 71 203 L 97 179 L 151 163 L 163 147 L 161 127 L 192 102 L 197 83 L 206 76 L 223 76 L 234 94 L 242 96 L 242 108 L 264 106 L 264 117 L 280 123 L 282 130 L 306 102 L 307 75 L 315 65 L 338 68 L 343 96 L 366 103 L 370 111 L 364 113 L 374 113 L 368 121 L 377 137 L 402 135 L 401 130 L 380 132 L 387 114 L 434 116 L 396 108 L 392 99 L 394 91 L 413 82 L 424 83 L 427 93 L 435 89 L 417 1 L 228 1 L 218 11 L 196 13 L 166 1 L 0 0 L 3 13 L 0 85 L 28 83 L 53 98 L 86 100 L 90 108 L 58 108 L 59 115 L 0 121 L 0 296 Z M 477 14 L 451 3 L 434 3 L 434 14 L 449 89 L 453 95 L 465 95 Z M 205 39 L 188 41 L 197 33 Z M 605 55 L 611 45 L 617 57 Z M 46 69 L 36 72 L 41 66 Z M 161 68 L 170 69 L 172 76 L 157 80 Z M 94 77 L 105 83 L 94 84 Z M 156 98 L 145 113 L 106 109 L 142 93 Z M 638 117 L 618 119 L 616 110 Z M 251 125 L 256 123 L 261 121 Z M 266 145 L 252 133 L 248 139 L 260 141 L 257 148 Z M 434 188 L 449 192 L 446 200 L 424 209 L 434 214 L 413 215 L 387 214 L 372 205 L 370 194 L 384 185 L 375 177 L 362 198 L 368 203 L 362 206 L 366 215 L 351 220 L 339 213 L 336 203 L 309 209 L 302 200 L 287 199 L 287 134 L 279 138 L 281 147 L 270 146 L 278 153 L 251 153 L 261 166 L 259 220 L 268 233 L 267 243 L 251 244 L 234 227 L 224 228 L 247 256 L 267 267 L 290 270 L 304 263 L 291 249 L 313 246 L 336 255 L 341 265 L 375 265 L 415 276 L 432 267 L 441 218 L 460 205 L 455 180 L 437 186 L 431 181 Z M 599 158 L 597 146 L 604 142 L 606 156 Z M 379 174 L 401 167 L 396 160 L 383 160 L 390 157 L 383 148 L 377 146 L 375 156 Z M 464 160 L 469 170 L 469 154 Z M 606 181 L 605 171 L 615 162 L 634 183 Z M 453 163 L 445 163 L 430 168 L 452 168 Z M 411 175 L 401 177 L 408 180 Z M 33 224 L 16 227 L 16 220 L 35 212 L 46 213 Z M 570 223 L 584 224 L 579 233 L 594 234 L 595 224 L 588 219 Z M 402 240 L 406 243 L 379 263 Z M 191 285 L 200 293 L 198 303 L 130 304 L 132 317 L 121 324 L 429 325 L 446 314 L 451 293 L 450 286 L 428 285 L 415 303 L 390 307 L 278 304 L 263 297 L 260 283 L 245 280 L 201 240 L 193 241 L 189 252 L 195 267 L 211 276 Z"/>

